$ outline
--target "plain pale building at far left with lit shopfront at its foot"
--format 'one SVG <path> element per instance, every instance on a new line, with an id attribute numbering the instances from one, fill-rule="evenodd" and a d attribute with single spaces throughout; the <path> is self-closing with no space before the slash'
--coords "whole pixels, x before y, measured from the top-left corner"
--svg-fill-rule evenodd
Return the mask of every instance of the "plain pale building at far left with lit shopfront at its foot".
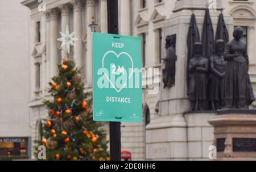
<path id="1" fill-rule="evenodd" d="M 0 158 L 30 152 L 28 115 L 28 9 L 20 0 L 0 2 Z M 18 16 L 18 17 L 17 17 Z"/>

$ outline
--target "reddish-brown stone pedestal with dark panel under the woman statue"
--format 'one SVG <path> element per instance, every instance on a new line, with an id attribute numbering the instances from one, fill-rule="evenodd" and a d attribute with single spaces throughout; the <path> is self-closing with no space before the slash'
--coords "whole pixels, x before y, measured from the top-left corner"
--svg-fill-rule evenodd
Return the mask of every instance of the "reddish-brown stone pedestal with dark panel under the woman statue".
<path id="1" fill-rule="evenodd" d="M 256 160 L 256 110 L 220 110 L 209 123 L 217 160 Z"/>

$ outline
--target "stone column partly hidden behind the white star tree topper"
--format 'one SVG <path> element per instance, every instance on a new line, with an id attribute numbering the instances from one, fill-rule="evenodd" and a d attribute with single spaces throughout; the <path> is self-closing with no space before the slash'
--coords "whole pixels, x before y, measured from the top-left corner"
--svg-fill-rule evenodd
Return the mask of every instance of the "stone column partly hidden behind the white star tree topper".
<path id="1" fill-rule="evenodd" d="M 61 11 L 61 32 L 66 33 L 66 27 L 69 26 L 69 5 L 63 4 L 59 6 Z M 61 58 L 67 58 L 67 47 L 62 47 Z"/>

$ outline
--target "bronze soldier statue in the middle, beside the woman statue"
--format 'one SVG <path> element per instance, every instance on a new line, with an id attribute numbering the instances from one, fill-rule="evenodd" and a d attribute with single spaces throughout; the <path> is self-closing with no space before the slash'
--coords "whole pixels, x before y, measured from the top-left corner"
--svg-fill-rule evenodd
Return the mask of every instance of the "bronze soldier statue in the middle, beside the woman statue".
<path id="1" fill-rule="evenodd" d="M 210 56 L 210 95 L 209 100 L 212 110 L 218 110 L 223 107 L 224 99 L 224 75 L 225 65 L 223 54 L 225 42 L 220 39 L 215 42 L 215 53 Z"/>

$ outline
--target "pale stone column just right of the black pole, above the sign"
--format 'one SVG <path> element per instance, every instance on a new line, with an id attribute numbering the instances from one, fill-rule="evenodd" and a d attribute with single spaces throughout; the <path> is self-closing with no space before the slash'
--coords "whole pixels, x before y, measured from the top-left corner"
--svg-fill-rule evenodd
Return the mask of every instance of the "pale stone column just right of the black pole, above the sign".
<path id="1" fill-rule="evenodd" d="M 121 1 L 121 20 L 120 20 L 120 34 L 131 34 L 131 22 L 130 22 L 130 0 Z"/>

